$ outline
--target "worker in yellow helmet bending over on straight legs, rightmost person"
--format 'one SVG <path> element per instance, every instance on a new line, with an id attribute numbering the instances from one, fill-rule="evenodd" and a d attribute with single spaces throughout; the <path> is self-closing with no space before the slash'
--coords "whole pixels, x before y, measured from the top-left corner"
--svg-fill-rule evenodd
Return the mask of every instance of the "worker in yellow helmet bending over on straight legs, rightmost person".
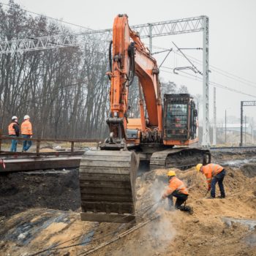
<path id="1" fill-rule="evenodd" d="M 219 198 L 225 198 L 225 189 L 223 186 L 223 180 L 226 175 L 226 171 L 224 167 L 217 164 L 208 164 L 202 165 L 198 164 L 196 166 L 197 171 L 203 173 L 206 176 L 206 181 L 208 184 L 208 191 L 211 190 L 211 197 L 208 198 L 215 198 L 215 186 L 218 183 L 220 196 Z"/>

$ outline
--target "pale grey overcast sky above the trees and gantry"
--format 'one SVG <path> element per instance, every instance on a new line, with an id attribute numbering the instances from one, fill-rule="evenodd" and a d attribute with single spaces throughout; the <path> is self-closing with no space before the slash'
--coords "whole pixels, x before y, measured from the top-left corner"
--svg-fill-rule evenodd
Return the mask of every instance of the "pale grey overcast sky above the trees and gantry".
<path id="1" fill-rule="evenodd" d="M 7 0 L 2 0 L 7 3 Z M 113 25 L 113 19 L 118 13 L 127 13 L 129 24 L 151 23 L 177 18 L 189 18 L 200 15 L 209 17 L 209 63 L 214 67 L 230 72 L 252 83 L 245 84 L 219 75 L 211 69 L 210 80 L 224 86 L 244 91 L 249 97 L 225 89 L 217 88 L 217 116 L 223 118 L 225 109 L 227 115 L 240 116 L 241 100 L 256 100 L 256 1 L 255 0 L 158 0 L 158 1 L 103 1 L 103 0 L 16 0 L 21 7 L 48 15 L 53 18 L 62 18 L 80 26 L 91 29 L 107 29 Z M 75 29 L 75 26 L 73 27 Z M 180 48 L 200 48 L 203 37 L 201 32 L 182 34 L 153 39 L 157 47 L 173 47 L 176 42 Z M 148 43 L 147 40 L 144 42 Z M 156 51 L 155 49 L 153 51 Z M 202 60 L 201 50 L 186 50 L 189 56 Z M 160 62 L 165 54 L 156 56 Z M 166 67 L 181 67 L 188 63 L 176 54 L 170 53 Z M 202 69 L 200 64 L 198 69 Z M 194 75 L 190 72 L 191 75 Z M 225 73 L 227 75 L 227 73 Z M 200 75 L 198 75 L 200 77 Z M 163 80 L 172 80 L 178 85 L 184 84 L 191 94 L 202 94 L 203 87 L 199 80 L 188 79 L 181 75 L 161 72 Z M 210 117 L 212 117 L 213 88 L 210 86 Z M 247 116 L 255 118 L 256 108 L 247 107 Z"/>

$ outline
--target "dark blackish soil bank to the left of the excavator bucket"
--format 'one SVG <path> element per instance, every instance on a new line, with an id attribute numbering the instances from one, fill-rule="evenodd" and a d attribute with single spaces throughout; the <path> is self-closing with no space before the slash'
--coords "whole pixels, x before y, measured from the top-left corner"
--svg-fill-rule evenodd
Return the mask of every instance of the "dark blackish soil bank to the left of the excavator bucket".
<path id="1" fill-rule="evenodd" d="M 75 211 L 80 207 L 78 170 L 1 174 L 0 206 L 0 216 L 34 207 Z"/>

